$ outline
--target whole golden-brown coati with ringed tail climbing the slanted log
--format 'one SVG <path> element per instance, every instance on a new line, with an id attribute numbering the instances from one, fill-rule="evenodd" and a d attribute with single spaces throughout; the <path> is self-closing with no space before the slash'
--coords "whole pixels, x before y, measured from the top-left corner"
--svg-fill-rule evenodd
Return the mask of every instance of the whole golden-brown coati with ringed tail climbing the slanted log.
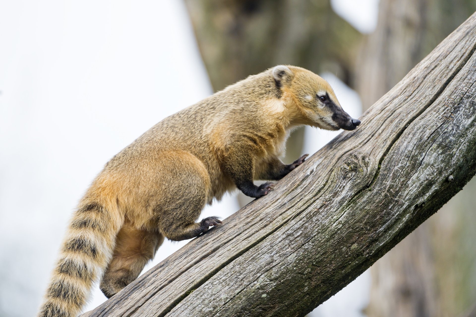
<path id="1" fill-rule="evenodd" d="M 278 65 L 160 121 L 113 157 L 70 221 L 38 316 L 76 316 L 94 282 L 111 297 L 154 257 L 164 238 L 199 236 L 221 221 L 199 217 L 233 188 L 259 198 L 307 155 L 284 164 L 292 129 L 353 130 L 329 84 Z"/>

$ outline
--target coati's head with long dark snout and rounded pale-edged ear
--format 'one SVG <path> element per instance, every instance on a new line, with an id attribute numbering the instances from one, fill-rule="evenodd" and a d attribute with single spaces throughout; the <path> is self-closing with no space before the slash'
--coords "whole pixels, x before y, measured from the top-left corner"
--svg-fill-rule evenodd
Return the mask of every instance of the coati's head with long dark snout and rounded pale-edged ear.
<path id="1" fill-rule="evenodd" d="M 278 65 L 271 71 L 279 89 L 294 99 L 303 123 L 326 130 L 354 130 L 360 124 L 342 109 L 322 77 L 294 66 Z"/>

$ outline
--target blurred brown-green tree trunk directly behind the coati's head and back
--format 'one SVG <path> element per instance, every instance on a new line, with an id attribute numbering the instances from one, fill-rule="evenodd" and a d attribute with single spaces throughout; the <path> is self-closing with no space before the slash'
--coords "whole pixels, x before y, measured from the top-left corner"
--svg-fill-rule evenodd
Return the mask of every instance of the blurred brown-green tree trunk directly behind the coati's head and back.
<path id="1" fill-rule="evenodd" d="M 328 0 L 185 0 L 215 91 L 278 64 L 330 71 L 354 82 L 362 35 Z M 284 161 L 299 157 L 304 129 L 288 139 Z M 239 195 L 244 206 L 251 199 Z"/>

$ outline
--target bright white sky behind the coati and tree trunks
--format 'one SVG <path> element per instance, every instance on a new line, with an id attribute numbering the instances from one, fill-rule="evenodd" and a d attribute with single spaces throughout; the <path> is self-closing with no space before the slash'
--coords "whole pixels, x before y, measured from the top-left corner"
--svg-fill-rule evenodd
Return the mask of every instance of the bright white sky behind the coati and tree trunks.
<path id="1" fill-rule="evenodd" d="M 368 32 L 376 1 L 332 5 Z M 160 119 L 212 90 L 181 1 L 3 0 L 0 7 L 0 316 L 33 316 L 90 181 Z M 322 76 L 358 117 L 356 93 Z M 307 129 L 305 152 L 335 135 Z M 228 196 L 202 217 L 237 209 Z M 154 264 L 185 243 L 166 242 Z M 364 274 L 313 316 L 361 316 L 368 284 Z M 96 287 L 87 309 L 104 299 Z"/>

